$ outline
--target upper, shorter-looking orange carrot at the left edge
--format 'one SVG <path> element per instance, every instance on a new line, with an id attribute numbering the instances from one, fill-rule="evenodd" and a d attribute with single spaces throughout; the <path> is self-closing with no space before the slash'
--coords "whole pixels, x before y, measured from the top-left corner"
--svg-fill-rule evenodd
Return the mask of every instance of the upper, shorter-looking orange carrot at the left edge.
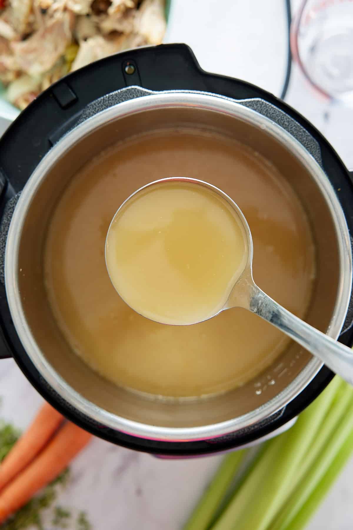
<path id="1" fill-rule="evenodd" d="M 0 464 L 0 491 L 37 456 L 63 420 L 49 403 L 44 403 L 31 426 Z"/>

